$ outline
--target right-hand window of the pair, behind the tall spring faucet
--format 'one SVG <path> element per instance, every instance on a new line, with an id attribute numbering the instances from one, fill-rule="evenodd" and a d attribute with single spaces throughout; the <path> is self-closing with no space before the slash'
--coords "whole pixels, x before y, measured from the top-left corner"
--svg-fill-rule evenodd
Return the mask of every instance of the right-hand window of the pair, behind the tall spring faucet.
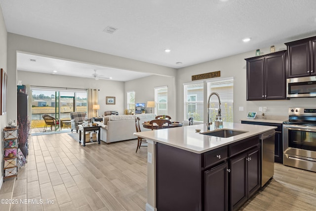
<path id="1" fill-rule="evenodd" d="M 234 79 L 222 79 L 207 82 L 207 97 L 211 92 L 217 92 L 221 98 L 222 120 L 225 122 L 234 122 L 233 102 L 234 102 Z M 218 113 L 218 99 L 213 95 L 210 99 L 210 117 L 214 122 Z"/>

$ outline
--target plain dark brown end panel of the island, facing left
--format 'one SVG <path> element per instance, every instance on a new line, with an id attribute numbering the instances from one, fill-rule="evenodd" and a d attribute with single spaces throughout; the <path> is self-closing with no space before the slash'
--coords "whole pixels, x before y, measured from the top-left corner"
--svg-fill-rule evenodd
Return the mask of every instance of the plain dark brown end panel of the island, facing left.
<path id="1" fill-rule="evenodd" d="M 157 143 L 157 210 L 201 211 L 202 176 L 200 154 Z"/>

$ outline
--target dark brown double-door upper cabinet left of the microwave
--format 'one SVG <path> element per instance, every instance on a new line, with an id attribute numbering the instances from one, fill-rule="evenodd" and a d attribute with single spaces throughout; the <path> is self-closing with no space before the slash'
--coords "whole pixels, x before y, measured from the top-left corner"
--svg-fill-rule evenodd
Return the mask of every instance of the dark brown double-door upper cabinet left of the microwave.
<path id="1" fill-rule="evenodd" d="M 286 99 L 286 50 L 245 59 L 247 100 Z"/>

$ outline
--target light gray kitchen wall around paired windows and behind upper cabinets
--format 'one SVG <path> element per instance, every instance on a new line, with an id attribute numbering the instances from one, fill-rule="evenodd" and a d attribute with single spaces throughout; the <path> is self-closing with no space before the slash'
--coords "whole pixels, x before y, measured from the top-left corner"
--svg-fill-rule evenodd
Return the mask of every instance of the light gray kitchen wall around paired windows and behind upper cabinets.
<path id="1" fill-rule="evenodd" d="M 284 50 L 286 46 L 275 44 L 276 50 Z M 270 53 L 270 47 L 260 49 L 262 54 Z M 261 54 L 261 55 L 262 55 Z M 217 59 L 181 68 L 177 74 L 177 116 L 179 120 L 183 120 L 183 83 L 189 83 L 192 75 L 221 71 L 221 78 L 234 77 L 234 122 L 240 123 L 240 119 L 244 119 L 248 111 L 259 112 L 259 106 L 266 106 L 266 115 L 288 116 L 289 107 L 316 107 L 316 98 L 292 98 L 291 100 L 266 100 L 266 101 L 246 101 L 246 61 L 245 58 L 255 56 L 255 49 L 246 53 L 233 55 L 230 57 Z M 205 80 L 206 81 L 206 80 Z M 207 97 L 204 95 L 204 102 Z M 216 98 L 211 98 L 216 100 Z M 206 104 L 206 103 L 205 103 Z M 206 105 L 205 105 L 206 107 Z M 244 107 L 244 111 L 239 111 L 239 107 Z M 204 109 L 204 122 L 207 120 L 206 109 Z"/>

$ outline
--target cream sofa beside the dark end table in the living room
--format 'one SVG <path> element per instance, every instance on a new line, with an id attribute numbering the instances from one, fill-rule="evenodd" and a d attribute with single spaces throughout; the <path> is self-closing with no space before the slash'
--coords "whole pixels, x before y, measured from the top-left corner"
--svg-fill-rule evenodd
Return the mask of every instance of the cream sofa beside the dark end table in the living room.
<path id="1" fill-rule="evenodd" d="M 139 115 L 111 115 L 103 117 L 101 126 L 101 141 L 106 143 L 130 140 L 137 138 L 133 135 L 136 132 L 135 118 L 140 118 L 140 124 L 154 120 L 156 114 L 139 114 Z M 141 131 L 150 130 L 142 127 Z"/>

